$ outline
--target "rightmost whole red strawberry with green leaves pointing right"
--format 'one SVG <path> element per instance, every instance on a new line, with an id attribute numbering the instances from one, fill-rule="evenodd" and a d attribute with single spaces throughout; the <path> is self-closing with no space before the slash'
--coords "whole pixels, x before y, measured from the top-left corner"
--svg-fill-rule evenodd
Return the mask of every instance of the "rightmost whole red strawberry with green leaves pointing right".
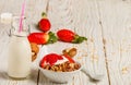
<path id="1" fill-rule="evenodd" d="M 57 36 L 61 41 L 81 44 L 84 40 L 87 40 L 86 37 L 79 36 L 70 29 L 60 29 L 57 32 Z"/>

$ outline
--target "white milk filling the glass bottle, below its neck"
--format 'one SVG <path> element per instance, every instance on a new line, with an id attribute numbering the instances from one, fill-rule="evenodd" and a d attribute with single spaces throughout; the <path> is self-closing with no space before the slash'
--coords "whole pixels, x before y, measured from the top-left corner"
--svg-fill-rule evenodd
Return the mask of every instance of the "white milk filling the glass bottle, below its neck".
<path id="1" fill-rule="evenodd" d="M 31 71 L 31 63 L 32 51 L 27 38 L 25 36 L 12 36 L 9 46 L 9 76 L 26 77 Z"/>

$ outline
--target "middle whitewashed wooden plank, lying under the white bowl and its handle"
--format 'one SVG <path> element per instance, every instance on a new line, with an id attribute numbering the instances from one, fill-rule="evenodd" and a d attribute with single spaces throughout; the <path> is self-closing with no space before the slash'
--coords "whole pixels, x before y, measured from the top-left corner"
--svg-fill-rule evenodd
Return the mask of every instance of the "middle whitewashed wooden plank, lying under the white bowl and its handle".
<path id="1" fill-rule="evenodd" d="M 79 54 L 75 60 L 80 61 L 87 71 L 103 73 L 100 82 L 92 82 L 85 74 L 74 76 L 73 83 L 68 85 L 108 85 L 105 65 L 105 53 L 103 48 L 102 27 L 99 14 L 95 0 L 50 0 L 48 5 L 48 17 L 51 21 L 51 31 L 69 28 L 88 38 L 80 45 L 57 42 L 48 46 L 49 49 L 60 52 L 68 47 L 76 47 Z M 57 50 L 56 50 L 57 49 Z M 39 74 L 39 85 L 56 85 L 47 80 L 43 73 Z"/>

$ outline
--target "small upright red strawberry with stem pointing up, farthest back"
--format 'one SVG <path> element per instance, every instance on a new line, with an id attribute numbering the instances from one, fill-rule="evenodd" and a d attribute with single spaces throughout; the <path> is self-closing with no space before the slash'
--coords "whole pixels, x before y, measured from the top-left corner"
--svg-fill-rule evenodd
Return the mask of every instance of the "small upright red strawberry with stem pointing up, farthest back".
<path id="1" fill-rule="evenodd" d="M 43 13 L 43 19 L 38 22 L 38 27 L 43 32 L 48 32 L 51 27 L 50 21 L 47 19 L 46 13 Z"/>

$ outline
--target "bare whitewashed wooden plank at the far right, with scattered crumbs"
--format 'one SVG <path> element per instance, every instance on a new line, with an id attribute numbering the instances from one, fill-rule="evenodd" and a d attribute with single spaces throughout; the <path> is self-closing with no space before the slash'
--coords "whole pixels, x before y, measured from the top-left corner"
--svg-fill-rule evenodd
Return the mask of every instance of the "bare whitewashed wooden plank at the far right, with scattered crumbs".
<path id="1" fill-rule="evenodd" d="M 131 1 L 97 1 L 105 38 L 110 85 L 131 84 Z"/>

